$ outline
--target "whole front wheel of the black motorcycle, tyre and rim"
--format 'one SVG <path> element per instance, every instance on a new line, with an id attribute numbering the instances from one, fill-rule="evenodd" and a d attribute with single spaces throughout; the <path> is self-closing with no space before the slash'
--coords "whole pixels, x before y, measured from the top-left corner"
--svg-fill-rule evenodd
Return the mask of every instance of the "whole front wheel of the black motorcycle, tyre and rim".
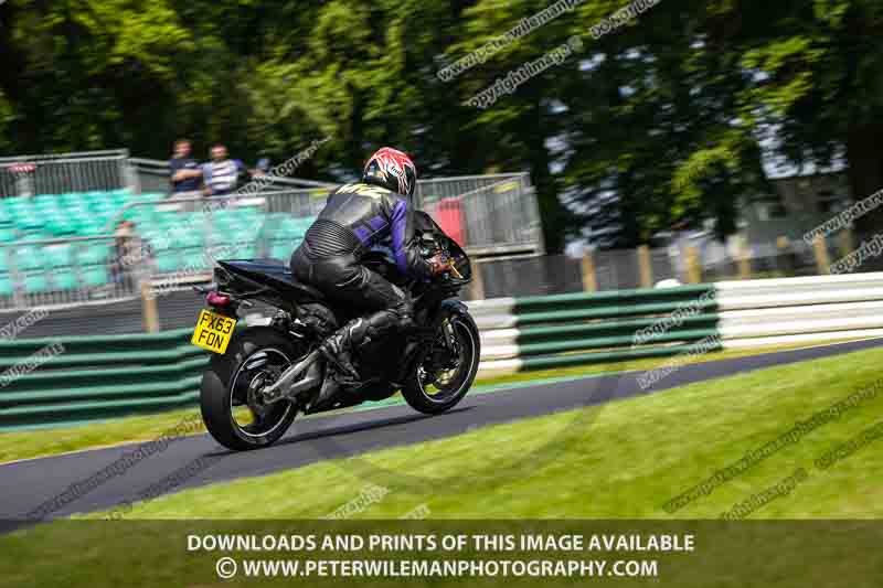
<path id="1" fill-rule="evenodd" d="M 445 344 L 445 321 L 454 335 L 453 350 Z M 481 356 L 481 341 L 472 317 L 453 312 L 445 321 L 402 387 L 407 404 L 427 415 L 444 413 L 466 396 L 476 379 Z"/>

